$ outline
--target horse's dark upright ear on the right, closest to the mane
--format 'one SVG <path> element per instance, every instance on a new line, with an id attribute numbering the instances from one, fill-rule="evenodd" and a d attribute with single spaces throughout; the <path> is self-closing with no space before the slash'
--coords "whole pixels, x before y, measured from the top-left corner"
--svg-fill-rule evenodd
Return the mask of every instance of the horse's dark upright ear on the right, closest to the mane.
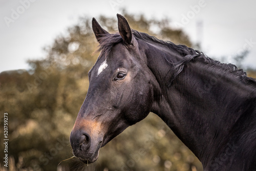
<path id="1" fill-rule="evenodd" d="M 133 34 L 127 20 L 120 14 L 117 14 L 117 19 L 119 34 L 126 44 L 132 45 Z"/>

